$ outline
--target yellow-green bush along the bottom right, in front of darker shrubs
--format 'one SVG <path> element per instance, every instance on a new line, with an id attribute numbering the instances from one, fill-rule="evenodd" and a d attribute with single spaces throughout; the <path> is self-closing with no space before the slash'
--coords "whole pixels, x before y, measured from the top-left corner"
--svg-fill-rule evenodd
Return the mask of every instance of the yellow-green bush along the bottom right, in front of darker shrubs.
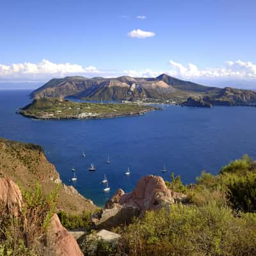
<path id="1" fill-rule="evenodd" d="M 120 252 L 129 256 L 255 255 L 256 216 L 235 218 L 231 209 L 173 205 L 150 211 L 123 230 Z M 248 234 L 252 238 L 247 239 Z"/>

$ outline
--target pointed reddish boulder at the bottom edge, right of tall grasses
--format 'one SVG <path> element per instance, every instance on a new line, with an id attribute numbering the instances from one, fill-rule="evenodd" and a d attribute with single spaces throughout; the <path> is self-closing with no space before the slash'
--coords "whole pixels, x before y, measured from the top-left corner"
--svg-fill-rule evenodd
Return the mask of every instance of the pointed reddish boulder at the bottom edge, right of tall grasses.
<path id="1" fill-rule="evenodd" d="M 83 256 L 76 239 L 63 227 L 57 214 L 52 216 L 47 243 L 56 256 Z"/>

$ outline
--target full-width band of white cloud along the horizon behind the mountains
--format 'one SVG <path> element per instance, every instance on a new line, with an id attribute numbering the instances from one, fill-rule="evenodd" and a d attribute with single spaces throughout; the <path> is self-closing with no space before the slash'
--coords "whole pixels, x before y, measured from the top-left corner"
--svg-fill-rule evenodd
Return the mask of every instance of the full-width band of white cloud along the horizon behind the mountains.
<path id="1" fill-rule="evenodd" d="M 0 82 L 46 82 L 53 77 L 65 76 L 133 76 L 156 77 L 160 74 L 169 74 L 180 79 L 191 80 L 197 83 L 212 86 L 240 86 L 241 88 L 255 88 L 256 64 L 251 61 L 227 61 L 223 67 L 199 68 L 193 63 L 169 61 L 166 70 L 101 70 L 94 66 L 83 67 L 71 63 L 53 63 L 42 60 L 38 63 L 24 62 L 4 65 L 0 63 Z M 242 83 L 243 82 L 243 83 Z"/>

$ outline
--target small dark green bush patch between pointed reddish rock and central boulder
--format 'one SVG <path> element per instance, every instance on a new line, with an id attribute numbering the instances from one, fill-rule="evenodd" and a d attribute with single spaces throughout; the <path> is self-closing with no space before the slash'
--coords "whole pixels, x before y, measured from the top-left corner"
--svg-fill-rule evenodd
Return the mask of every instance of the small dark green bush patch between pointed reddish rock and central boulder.
<path id="1" fill-rule="evenodd" d="M 61 224 L 68 230 L 75 228 L 90 228 L 91 212 L 84 211 L 81 215 L 67 214 L 67 212 L 59 212 L 58 217 L 60 218 Z"/>

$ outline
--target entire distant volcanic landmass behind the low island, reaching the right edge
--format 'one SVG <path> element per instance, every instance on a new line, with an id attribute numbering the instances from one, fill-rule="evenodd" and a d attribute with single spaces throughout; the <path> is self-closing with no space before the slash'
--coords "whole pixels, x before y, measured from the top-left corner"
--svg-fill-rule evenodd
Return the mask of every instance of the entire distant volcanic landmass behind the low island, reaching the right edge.
<path id="1" fill-rule="evenodd" d="M 256 102 L 250 90 L 217 88 L 183 81 L 166 74 L 154 78 L 121 76 L 116 78 L 80 76 L 51 79 L 31 97 L 74 97 L 90 100 L 138 100 L 204 98 L 211 104 L 248 104 Z M 180 101 L 179 100 L 179 101 Z"/>

